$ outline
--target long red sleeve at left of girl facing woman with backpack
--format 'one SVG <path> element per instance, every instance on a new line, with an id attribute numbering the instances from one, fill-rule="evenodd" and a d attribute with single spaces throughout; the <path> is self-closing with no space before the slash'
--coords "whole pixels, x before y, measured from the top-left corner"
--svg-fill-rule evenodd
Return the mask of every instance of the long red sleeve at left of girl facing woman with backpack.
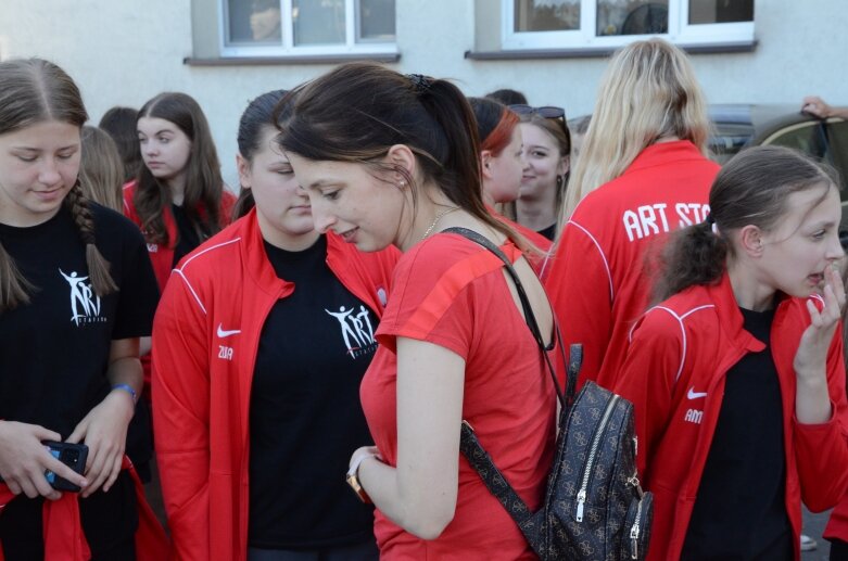
<path id="1" fill-rule="evenodd" d="M 175 276 L 153 323 L 153 424 L 168 526 L 181 560 L 211 559 L 205 326 L 185 279 Z"/>

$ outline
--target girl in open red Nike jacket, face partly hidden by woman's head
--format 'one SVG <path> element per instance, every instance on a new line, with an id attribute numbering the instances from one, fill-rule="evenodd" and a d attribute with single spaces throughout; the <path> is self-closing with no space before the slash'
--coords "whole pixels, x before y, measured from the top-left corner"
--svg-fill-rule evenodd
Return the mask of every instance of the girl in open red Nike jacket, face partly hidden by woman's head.
<path id="1" fill-rule="evenodd" d="M 344 484 L 396 251 L 313 227 L 261 95 L 239 126 L 245 215 L 174 271 L 153 331 L 162 490 L 181 560 L 374 560 L 372 508 Z"/>

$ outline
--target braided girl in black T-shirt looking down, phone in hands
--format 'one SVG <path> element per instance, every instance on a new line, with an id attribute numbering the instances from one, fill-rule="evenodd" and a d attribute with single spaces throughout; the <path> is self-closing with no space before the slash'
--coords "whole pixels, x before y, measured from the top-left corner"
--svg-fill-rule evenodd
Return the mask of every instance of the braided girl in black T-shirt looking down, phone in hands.
<path id="1" fill-rule="evenodd" d="M 144 242 L 83 194 L 74 81 L 31 59 L 0 63 L 0 559 L 161 559 L 124 457 L 157 298 Z M 84 474 L 42 441 L 88 446 Z"/>

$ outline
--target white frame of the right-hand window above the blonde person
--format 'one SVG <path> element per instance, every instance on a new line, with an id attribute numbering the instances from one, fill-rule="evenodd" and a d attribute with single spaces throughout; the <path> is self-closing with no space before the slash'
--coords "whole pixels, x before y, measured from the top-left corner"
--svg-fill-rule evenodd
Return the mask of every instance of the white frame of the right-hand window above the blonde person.
<path id="1" fill-rule="evenodd" d="M 618 49 L 633 40 L 659 36 L 685 47 L 754 42 L 755 22 L 688 24 L 688 0 L 669 0 L 667 34 L 598 36 L 597 0 L 580 1 L 580 28 L 564 31 L 516 31 L 515 0 L 501 0 L 501 46 L 504 51 L 534 49 Z M 755 16 L 756 20 L 756 16 Z"/>

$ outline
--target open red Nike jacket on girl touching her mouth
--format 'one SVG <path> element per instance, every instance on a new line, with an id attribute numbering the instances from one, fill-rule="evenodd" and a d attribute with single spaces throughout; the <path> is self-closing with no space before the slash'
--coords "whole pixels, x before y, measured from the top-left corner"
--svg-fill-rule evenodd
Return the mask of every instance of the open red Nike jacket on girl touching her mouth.
<path id="1" fill-rule="evenodd" d="M 796 559 L 801 500 L 810 510 L 822 511 L 848 488 L 848 400 L 838 330 L 827 357 L 833 417 L 815 425 L 795 418 L 793 360 L 810 324 L 805 306 L 799 298 L 782 299 L 771 333 L 783 396 L 786 511 Z M 743 329 L 726 273 L 718 284 L 692 286 L 650 308 L 634 328 L 615 391 L 635 406 L 640 473 L 655 494 L 648 559 L 680 557 L 721 410 L 725 374 L 745 354 L 763 347 Z"/>

